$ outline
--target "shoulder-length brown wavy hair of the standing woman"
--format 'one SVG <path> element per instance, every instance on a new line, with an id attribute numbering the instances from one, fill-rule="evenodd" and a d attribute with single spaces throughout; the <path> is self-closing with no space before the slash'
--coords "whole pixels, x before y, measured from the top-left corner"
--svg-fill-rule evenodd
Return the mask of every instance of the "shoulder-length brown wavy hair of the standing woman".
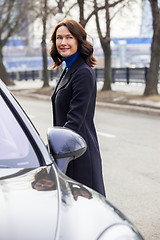
<path id="1" fill-rule="evenodd" d="M 65 19 L 56 25 L 51 36 L 52 46 L 50 50 L 50 56 L 53 60 L 51 69 L 60 66 L 62 63 L 62 56 L 58 53 L 56 47 L 56 32 L 61 26 L 67 27 L 70 33 L 78 40 L 79 54 L 84 58 L 85 62 L 90 67 L 94 67 L 96 65 L 96 59 L 93 57 L 93 45 L 87 41 L 86 31 L 80 23 L 72 19 Z"/>

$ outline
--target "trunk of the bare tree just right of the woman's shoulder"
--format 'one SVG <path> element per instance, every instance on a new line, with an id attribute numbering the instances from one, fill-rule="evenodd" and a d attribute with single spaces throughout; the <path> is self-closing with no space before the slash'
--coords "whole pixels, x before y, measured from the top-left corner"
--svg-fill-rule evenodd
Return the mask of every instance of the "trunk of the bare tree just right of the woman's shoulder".
<path id="1" fill-rule="evenodd" d="M 111 82 L 112 82 L 110 41 L 107 41 L 107 43 L 103 43 L 102 47 L 104 51 L 104 84 L 103 84 L 102 91 L 109 91 L 111 90 Z"/>

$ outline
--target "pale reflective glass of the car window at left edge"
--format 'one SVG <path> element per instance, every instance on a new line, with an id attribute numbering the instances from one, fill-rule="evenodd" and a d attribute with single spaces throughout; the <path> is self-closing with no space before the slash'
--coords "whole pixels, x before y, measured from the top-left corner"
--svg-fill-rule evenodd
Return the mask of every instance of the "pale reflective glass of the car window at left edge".
<path id="1" fill-rule="evenodd" d="M 2 96 L 0 106 L 0 167 L 39 166 L 30 141 Z"/>

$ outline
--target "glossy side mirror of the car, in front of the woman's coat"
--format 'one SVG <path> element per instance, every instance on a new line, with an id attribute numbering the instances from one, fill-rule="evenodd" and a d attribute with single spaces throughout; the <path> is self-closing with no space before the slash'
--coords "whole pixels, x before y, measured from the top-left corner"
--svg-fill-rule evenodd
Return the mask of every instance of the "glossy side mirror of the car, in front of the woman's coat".
<path id="1" fill-rule="evenodd" d="M 50 154 L 63 173 L 66 173 L 69 162 L 80 157 L 87 149 L 85 140 L 65 127 L 49 128 L 47 138 Z"/>

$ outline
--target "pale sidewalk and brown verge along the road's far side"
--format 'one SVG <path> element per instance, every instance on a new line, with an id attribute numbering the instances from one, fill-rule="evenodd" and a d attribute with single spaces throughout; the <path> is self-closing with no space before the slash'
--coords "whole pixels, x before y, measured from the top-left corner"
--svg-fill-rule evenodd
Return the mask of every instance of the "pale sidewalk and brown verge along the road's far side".
<path id="1" fill-rule="evenodd" d="M 41 80 L 15 81 L 15 85 L 10 86 L 9 89 L 15 95 L 50 101 L 56 81 L 51 81 L 49 88 L 42 89 L 42 85 L 43 82 Z M 102 85 L 102 82 L 97 83 L 97 106 L 160 115 L 160 95 L 144 97 L 144 84 L 127 85 L 125 83 L 115 83 L 111 86 L 112 91 L 100 91 Z"/>

